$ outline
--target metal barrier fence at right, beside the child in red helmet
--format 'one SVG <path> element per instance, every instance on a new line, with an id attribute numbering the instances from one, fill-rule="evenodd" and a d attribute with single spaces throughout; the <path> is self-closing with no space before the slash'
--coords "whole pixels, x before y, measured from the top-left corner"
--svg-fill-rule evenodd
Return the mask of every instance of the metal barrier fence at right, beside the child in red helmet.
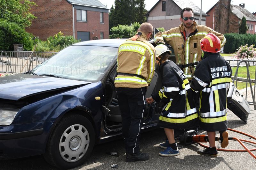
<path id="1" fill-rule="evenodd" d="M 255 67 L 255 71 L 254 71 L 254 74 L 255 74 L 254 79 L 250 77 L 250 71 L 249 71 L 249 64 L 251 63 L 254 65 L 254 62 L 256 62 L 256 60 L 227 60 L 227 61 L 231 66 L 236 66 L 236 72 L 235 72 L 235 74 L 233 73 L 234 76 L 232 76 L 233 83 L 236 81 L 236 83 L 234 83 L 236 86 L 237 86 L 237 81 L 241 80 L 241 78 L 238 77 L 238 68 L 243 63 L 245 64 L 246 70 L 247 70 L 245 100 L 248 102 L 249 105 L 254 105 L 254 110 L 256 110 L 256 102 L 255 102 L 256 67 Z M 236 63 L 236 64 L 234 64 L 234 63 Z M 248 83 L 249 83 L 250 91 L 251 91 L 251 93 L 249 93 L 249 94 L 247 94 Z M 253 84 L 254 84 L 254 90 L 253 90 Z M 250 96 L 248 96 L 248 95 L 250 95 Z M 248 101 L 249 99 L 247 99 L 247 98 L 249 98 L 249 97 L 252 97 L 252 101 Z"/>

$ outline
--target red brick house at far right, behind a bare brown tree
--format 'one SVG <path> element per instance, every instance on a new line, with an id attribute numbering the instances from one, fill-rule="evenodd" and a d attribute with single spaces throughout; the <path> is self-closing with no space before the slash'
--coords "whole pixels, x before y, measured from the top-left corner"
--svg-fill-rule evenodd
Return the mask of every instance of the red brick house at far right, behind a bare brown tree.
<path id="1" fill-rule="evenodd" d="M 216 29 L 216 9 L 218 9 L 218 4 L 217 2 L 215 5 L 212 6 L 212 8 L 206 12 L 209 16 L 206 17 L 206 26 Z M 222 0 L 222 4 L 224 8 L 222 10 L 228 11 L 228 1 L 227 0 Z M 246 19 L 246 25 L 249 27 L 246 33 L 255 33 L 255 26 L 256 26 L 256 16 L 254 16 L 250 11 L 246 10 L 244 8 L 245 4 L 239 4 L 238 5 L 232 5 L 230 4 L 230 9 L 231 13 L 229 16 L 229 29 L 228 30 L 223 30 L 220 29 L 220 33 L 239 33 L 239 24 L 243 18 L 243 16 Z M 213 23 L 213 16 L 214 16 L 214 23 Z M 213 28 L 214 27 L 214 28 Z M 218 31 L 218 30 L 217 30 Z"/>

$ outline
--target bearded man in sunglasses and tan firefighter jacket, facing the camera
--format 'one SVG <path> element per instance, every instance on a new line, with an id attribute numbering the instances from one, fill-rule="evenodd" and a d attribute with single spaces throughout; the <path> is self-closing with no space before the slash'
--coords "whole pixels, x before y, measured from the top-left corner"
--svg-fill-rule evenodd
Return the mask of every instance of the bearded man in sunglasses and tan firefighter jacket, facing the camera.
<path id="1" fill-rule="evenodd" d="M 194 11 L 184 8 L 180 12 L 181 24 L 165 32 L 156 33 L 154 42 L 156 45 L 169 44 L 172 46 L 176 64 L 183 70 L 188 80 L 192 79 L 196 64 L 201 61 L 202 50 L 200 40 L 208 33 L 213 33 L 220 38 L 221 47 L 226 43 L 224 35 L 213 31 L 207 26 L 197 25 L 194 20 Z"/>

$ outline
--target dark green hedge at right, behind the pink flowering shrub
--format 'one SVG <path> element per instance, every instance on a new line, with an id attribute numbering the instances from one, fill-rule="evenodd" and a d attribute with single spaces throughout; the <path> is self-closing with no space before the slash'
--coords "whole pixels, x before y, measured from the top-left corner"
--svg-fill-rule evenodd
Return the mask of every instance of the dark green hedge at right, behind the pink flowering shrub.
<path id="1" fill-rule="evenodd" d="M 234 53 L 241 45 L 256 45 L 256 34 L 238 34 L 226 33 L 226 44 L 224 45 L 224 53 Z"/>

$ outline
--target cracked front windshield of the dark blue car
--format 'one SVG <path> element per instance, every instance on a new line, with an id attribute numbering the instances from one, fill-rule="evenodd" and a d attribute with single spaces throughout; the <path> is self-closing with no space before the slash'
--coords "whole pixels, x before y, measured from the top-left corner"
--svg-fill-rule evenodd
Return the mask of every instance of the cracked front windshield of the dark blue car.
<path id="1" fill-rule="evenodd" d="M 100 46 L 69 46 L 31 72 L 42 76 L 97 82 L 116 61 L 117 49 Z"/>

